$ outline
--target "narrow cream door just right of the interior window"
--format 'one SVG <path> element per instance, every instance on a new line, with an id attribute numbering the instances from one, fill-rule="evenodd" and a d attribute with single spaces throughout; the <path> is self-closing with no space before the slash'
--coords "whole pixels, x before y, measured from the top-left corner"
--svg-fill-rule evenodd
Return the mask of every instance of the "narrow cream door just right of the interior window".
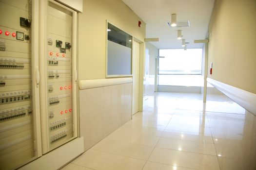
<path id="1" fill-rule="evenodd" d="M 132 114 L 138 112 L 139 102 L 139 42 L 133 41 L 133 101 Z"/>

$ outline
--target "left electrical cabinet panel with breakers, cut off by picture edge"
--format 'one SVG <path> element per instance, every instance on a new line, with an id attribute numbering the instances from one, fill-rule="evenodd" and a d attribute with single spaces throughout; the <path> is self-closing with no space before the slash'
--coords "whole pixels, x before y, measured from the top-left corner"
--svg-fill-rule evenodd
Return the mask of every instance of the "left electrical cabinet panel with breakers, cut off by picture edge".
<path id="1" fill-rule="evenodd" d="M 0 170 L 35 159 L 35 109 L 32 86 L 29 0 L 0 0 Z M 31 23 L 31 22 L 30 22 Z"/>

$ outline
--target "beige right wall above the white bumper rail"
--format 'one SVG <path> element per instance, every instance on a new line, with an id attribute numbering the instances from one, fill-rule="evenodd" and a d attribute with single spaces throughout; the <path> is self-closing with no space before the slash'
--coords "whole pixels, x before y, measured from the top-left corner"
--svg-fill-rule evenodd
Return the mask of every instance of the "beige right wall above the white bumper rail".
<path id="1" fill-rule="evenodd" d="M 256 93 L 256 0 L 216 0 L 209 26 L 208 77 Z"/>

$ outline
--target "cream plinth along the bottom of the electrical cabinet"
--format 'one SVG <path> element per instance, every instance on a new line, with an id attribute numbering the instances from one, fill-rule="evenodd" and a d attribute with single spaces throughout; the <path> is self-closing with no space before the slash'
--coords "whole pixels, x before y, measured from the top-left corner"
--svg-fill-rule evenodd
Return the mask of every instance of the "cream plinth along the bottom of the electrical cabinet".
<path id="1" fill-rule="evenodd" d="M 19 170 L 58 170 L 84 152 L 83 137 L 78 137 L 49 152 Z"/>

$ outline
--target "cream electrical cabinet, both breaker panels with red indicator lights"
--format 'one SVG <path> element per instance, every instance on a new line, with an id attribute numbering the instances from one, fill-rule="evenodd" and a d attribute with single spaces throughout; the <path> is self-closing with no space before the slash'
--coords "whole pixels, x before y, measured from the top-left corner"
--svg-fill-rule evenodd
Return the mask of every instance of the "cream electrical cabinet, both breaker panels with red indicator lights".
<path id="1" fill-rule="evenodd" d="M 0 0 L 0 16 L 0 169 L 13 170 L 78 136 L 77 13 Z"/>

